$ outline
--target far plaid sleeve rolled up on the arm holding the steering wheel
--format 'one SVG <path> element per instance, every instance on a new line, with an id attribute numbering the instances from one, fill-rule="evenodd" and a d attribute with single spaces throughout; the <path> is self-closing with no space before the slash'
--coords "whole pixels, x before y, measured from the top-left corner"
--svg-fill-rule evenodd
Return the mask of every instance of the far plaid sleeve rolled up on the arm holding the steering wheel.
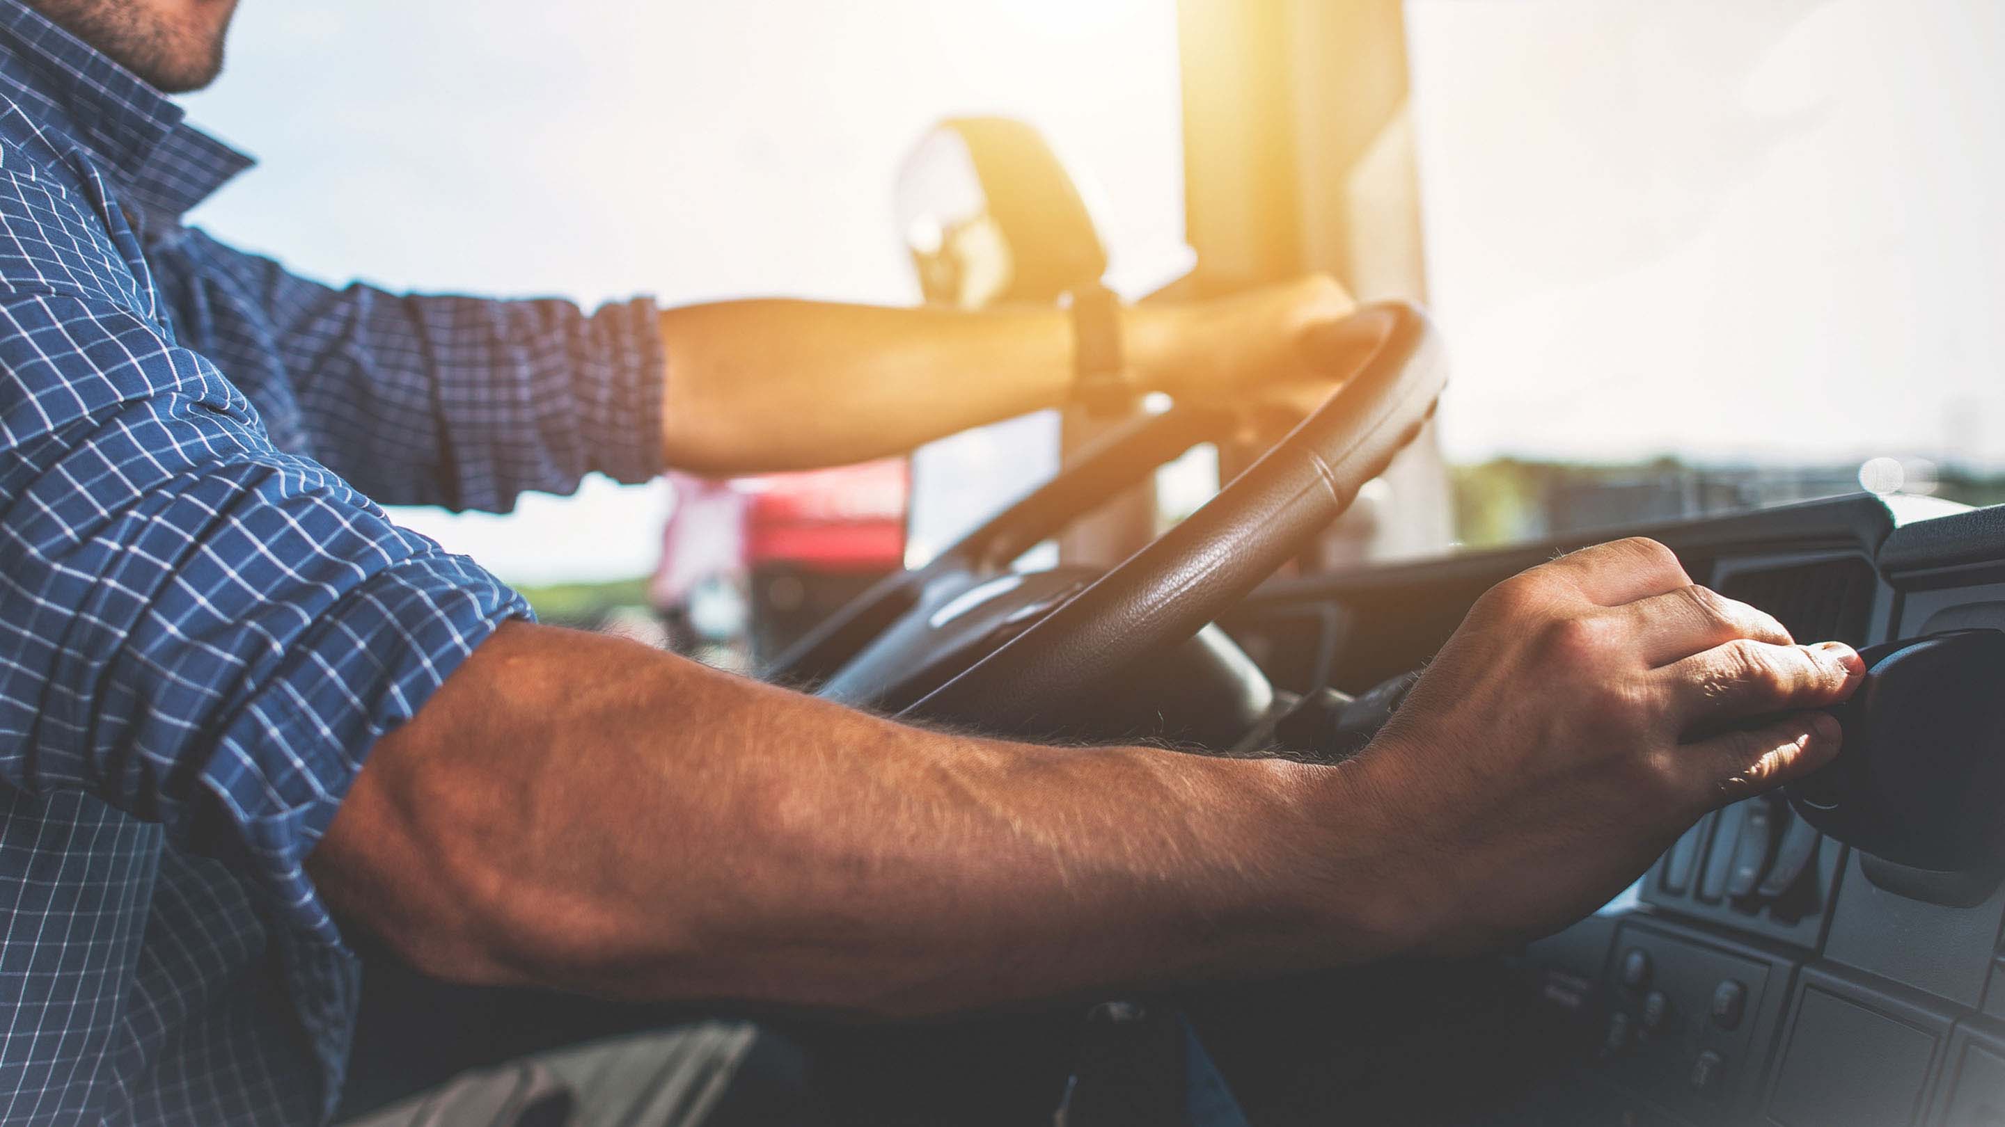
<path id="1" fill-rule="evenodd" d="M 333 289 L 200 231 L 158 265 L 198 313 L 184 327 L 194 343 L 239 383 L 269 371 L 313 457 L 379 503 L 507 511 L 587 473 L 662 471 L 652 299 L 587 313 L 563 299 Z"/>

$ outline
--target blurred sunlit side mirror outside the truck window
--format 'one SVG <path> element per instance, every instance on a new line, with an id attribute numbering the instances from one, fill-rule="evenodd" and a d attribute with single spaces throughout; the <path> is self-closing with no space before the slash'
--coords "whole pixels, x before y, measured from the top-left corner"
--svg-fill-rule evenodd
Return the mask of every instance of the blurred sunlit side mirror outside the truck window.
<path id="1" fill-rule="evenodd" d="M 1079 186 L 1021 120 L 936 124 L 906 156 L 896 201 L 928 303 L 1049 303 L 1107 273 L 1107 247 Z"/>

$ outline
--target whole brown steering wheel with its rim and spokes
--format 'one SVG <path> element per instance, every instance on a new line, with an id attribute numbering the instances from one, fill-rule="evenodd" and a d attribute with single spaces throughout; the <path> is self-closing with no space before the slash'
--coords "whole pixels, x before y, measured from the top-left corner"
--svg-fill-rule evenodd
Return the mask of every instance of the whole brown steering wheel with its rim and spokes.
<path id="1" fill-rule="evenodd" d="M 1446 383 L 1428 319 L 1379 303 L 1303 347 L 1343 383 L 1211 501 L 1097 580 L 1009 564 L 1191 445 L 1229 413 L 1133 421 L 932 564 L 864 592 L 766 680 L 986 732 L 1049 732 L 1143 656 L 1187 642 L 1339 517 L 1414 441 Z M 1243 654 L 1237 656 L 1245 662 Z"/>

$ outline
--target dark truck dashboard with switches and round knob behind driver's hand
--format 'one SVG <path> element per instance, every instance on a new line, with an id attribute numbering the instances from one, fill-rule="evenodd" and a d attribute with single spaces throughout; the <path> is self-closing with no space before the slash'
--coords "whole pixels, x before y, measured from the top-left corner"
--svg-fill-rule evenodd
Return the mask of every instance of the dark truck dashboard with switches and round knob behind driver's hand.
<path id="1" fill-rule="evenodd" d="M 1552 1059 L 1498 1123 L 2005 1127 L 2005 505 L 1893 527 L 1855 497 L 1624 531 L 1798 640 L 1873 650 L 1877 680 L 1839 716 L 1843 770 L 1700 818 L 1634 896 L 1524 953 Z M 1295 666 L 1395 708 L 1387 678 L 1568 547 L 1303 580 L 1245 622 L 1339 608 L 1341 646 Z"/>

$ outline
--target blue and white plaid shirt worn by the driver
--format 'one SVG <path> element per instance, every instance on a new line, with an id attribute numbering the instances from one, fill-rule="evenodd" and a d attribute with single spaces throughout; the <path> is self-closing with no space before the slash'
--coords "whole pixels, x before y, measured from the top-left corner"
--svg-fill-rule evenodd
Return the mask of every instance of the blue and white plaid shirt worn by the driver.
<path id="1" fill-rule="evenodd" d="M 658 471 L 650 303 L 301 281 L 178 221 L 247 164 L 0 0 L 4 1123 L 325 1119 L 359 971 L 301 864 L 527 614 L 377 503 Z"/>

